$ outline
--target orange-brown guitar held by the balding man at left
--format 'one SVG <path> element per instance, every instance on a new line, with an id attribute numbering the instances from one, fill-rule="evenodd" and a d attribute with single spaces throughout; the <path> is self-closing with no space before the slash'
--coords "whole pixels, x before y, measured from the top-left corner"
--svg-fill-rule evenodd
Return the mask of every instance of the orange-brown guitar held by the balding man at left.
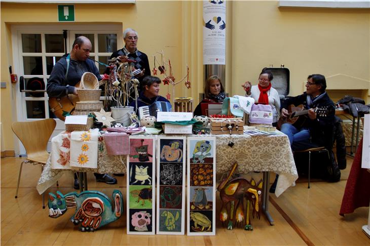
<path id="1" fill-rule="evenodd" d="M 106 80 L 100 80 L 99 86 L 104 84 Z M 80 88 L 80 82 L 75 85 L 75 87 Z M 76 108 L 77 102 L 79 102 L 79 96 L 75 94 L 68 94 L 64 97 L 49 97 L 50 110 L 61 120 L 65 120 L 63 116 L 63 111 L 72 113 Z"/>

